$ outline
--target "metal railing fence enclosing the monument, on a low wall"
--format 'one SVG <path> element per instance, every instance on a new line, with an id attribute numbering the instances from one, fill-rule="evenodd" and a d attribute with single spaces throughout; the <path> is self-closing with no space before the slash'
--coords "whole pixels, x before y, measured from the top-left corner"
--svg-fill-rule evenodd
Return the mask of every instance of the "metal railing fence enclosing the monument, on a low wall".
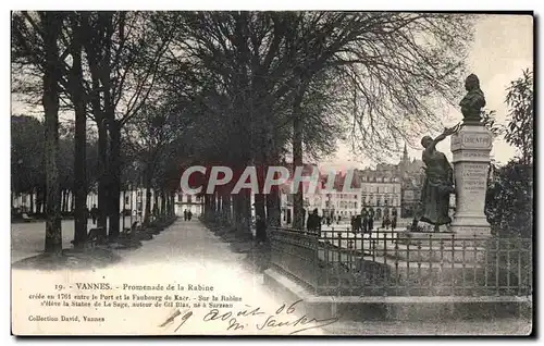
<path id="1" fill-rule="evenodd" d="M 318 295 L 527 296 L 532 239 L 273 228 L 272 265 Z"/>

